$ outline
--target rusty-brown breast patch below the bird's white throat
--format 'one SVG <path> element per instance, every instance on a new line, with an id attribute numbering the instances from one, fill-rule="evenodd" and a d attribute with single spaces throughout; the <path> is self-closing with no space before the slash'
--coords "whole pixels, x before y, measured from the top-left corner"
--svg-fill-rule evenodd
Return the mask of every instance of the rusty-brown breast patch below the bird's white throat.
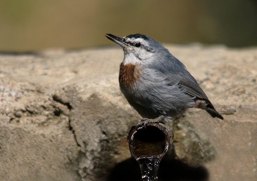
<path id="1" fill-rule="evenodd" d="M 141 76 L 142 67 L 138 64 L 121 63 L 119 72 L 119 83 L 121 89 L 131 89 Z"/>

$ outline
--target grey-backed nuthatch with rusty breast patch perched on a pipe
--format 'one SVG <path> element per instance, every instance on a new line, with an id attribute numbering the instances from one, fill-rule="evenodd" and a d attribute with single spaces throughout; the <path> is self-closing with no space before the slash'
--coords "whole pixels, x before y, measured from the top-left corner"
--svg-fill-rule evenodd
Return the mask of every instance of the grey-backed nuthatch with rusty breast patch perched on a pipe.
<path id="1" fill-rule="evenodd" d="M 141 34 L 106 35 L 123 48 L 120 89 L 146 123 L 175 120 L 188 108 L 223 119 L 186 67 L 161 43 Z"/>

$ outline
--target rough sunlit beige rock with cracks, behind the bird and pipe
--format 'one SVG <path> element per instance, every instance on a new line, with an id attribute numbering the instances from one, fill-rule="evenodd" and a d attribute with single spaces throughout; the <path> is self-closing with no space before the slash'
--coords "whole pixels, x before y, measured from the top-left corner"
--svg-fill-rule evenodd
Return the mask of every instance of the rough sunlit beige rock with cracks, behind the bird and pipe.
<path id="1" fill-rule="evenodd" d="M 224 117 L 190 109 L 174 121 L 176 159 L 209 180 L 256 180 L 257 48 L 165 47 Z M 119 91 L 122 59 L 118 47 L 1 54 L 0 180 L 106 180 L 130 158 L 141 118 Z"/>

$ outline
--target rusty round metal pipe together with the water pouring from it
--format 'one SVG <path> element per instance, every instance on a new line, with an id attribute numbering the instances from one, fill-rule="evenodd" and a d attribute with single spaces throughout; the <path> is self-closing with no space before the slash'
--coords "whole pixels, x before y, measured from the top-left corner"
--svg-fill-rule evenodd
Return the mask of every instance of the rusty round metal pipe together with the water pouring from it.
<path id="1" fill-rule="evenodd" d="M 174 146 L 166 129 L 156 123 L 134 128 L 128 136 L 131 155 L 138 162 L 143 181 L 156 181 L 162 158 L 171 160 Z"/>

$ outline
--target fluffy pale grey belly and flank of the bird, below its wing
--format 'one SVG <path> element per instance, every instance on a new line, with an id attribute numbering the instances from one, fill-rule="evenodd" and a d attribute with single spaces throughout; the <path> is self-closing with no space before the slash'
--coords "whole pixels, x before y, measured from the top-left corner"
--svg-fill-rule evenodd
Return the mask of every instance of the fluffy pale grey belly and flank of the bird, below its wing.
<path id="1" fill-rule="evenodd" d="M 129 86 L 120 81 L 120 88 L 129 104 L 144 118 L 160 115 L 177 118 L 195 104 L 192 96 L 186 94 L 178 83 L 170 84 L 154 69 L 143 69 Z"/>

